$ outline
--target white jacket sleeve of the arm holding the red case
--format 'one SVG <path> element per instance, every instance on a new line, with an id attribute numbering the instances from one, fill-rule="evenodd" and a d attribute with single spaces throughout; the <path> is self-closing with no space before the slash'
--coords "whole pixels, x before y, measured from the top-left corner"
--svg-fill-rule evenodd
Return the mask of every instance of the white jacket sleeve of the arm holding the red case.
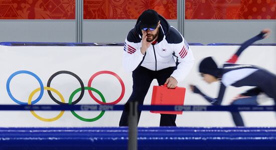
<path id="1" fill-rule="evenodd" d="M 182 81 L 190 72 L 194 65 L 194 56 L 188 42 L 183 38 L 181 43 L 174 46 L 175 55 L 178 57 L 179 64 L 174 70 L 173 76 L 178 82 Z"/>

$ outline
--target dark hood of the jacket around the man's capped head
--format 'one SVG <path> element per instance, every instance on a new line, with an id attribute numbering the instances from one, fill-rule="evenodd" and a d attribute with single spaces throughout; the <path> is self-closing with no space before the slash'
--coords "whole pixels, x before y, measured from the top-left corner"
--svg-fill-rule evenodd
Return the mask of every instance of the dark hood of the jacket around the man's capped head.
<path id="1" fill-rule="evenodd" d="M 170 24 L 162 15 L 159 14 L 158 16 L 159 16 L 160 24 L 163 28 L 164 34 L 167 35 L 170 32 Z M 136 21 L 134 29 L 135 29 L 135 32 L 142 37 L 142 31 L 140 29 L 140 16 Z M 160 27 L 159 34 L 158 34 L 158 42 L 160 42 L 164 37 L 163 31 Z"/>

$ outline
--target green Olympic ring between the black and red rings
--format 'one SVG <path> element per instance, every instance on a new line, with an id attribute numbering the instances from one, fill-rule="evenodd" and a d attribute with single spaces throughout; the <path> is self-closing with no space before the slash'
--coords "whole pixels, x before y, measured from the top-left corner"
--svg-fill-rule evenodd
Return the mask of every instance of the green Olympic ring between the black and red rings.
<path id="1" fill-rule="evenodd" d="M 84 89 L 95 91 L 97 94 L 100 95 L 100 97 L 101 97 L 101 99 L 102 99 L 102 102 L 105 103 L 105 98 L 103 97 L 103 94 L 102 94 L 99 90 L 97 90 L 97 89 L 95 89 L 95 88 L 93 88 L 93 87 L 87 87 L 87 86 L 84 87 Z M 81 91 L 81 87 L 78 88 L 78 89 L 76 89 L 76 90 L 74 90 L 74 91 L 71 93 L 71 95 L 70 95 L 70 97 L 69 97 L 69 102 L 68 102 L 68 104 L 72 104 L 72 99 L 73 99 L 74 95 L 75 95 L 77 92 L 79 92 L 79 91 Z M 103 116 L 104 112 L 105 112 L 105 110 L 102 110 L 101 113 L 100 113 L 98 116 L 94 117 L 94 118 L 84 118 L 84 117 L 78 115 L 74 110 L 71 110 L 71 113 L 72 113 L 75 117 L 77 117 L 78 119 L 80 119 L 80 120 L 82 120 L 82 121 L 86 121 L 86 122 L 93 122 L 93 121 L 96 121 L 96 120 L 100 119 L 100 118 Z"/>

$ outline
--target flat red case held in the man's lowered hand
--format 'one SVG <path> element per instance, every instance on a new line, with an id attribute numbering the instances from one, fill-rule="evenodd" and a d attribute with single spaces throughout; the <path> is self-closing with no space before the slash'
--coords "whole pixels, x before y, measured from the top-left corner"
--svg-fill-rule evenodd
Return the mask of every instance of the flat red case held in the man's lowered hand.
<path id="1" fill-rule="evenodd" d="M 185 87 L 168 88 L 167 84 L 154 86 L 152 105 L 184 105 Z M 152 111 L 152 113 L 182 114 L 183 111 Z"/>

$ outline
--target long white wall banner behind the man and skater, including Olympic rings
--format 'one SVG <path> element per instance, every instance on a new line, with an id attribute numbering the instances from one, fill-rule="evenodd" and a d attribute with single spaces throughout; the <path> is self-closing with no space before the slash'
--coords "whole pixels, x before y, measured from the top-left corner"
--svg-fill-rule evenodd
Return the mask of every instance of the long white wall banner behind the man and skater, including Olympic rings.
<path id="1" fill-rule="evenodd" d="M 191 46 L 195 65 L 178 85 L 193 83 L 215 97 L 218 83 L 207 84 L 198 74 L 199 61 L 213 56 L 218 63 L 238 48 Z M 260 49 L 262 49 L 260 51 Z M 132 92 L 131 72 L 122 68 L 122 46 L 3 46 L 0 45 L 0 104 L 124 104 Z M 256 53 L 258 57 L 256 57 Z M 254 64 L 276 73 L 276 46 L 250 46 L 238 63 Z M 254 59 L 252 59 L 254 58 Z M 265 61 L 264 61 L 265 60 Z M 145 98 L 151 103 L 154 80 Z M 223 104 L 250 87 L 227 88 Z M 186 92 L 185 104 L 207 105 L 201 96 Z M 264 104 L 273 104 L 267 100 Z M 118 126 L 121 111 L 0 111 L 0 127 Z M 242 112 L 250 126 L 276 124 L 273 112 Z M 267 119 L 269 118 L 269 119 Z M 262 120 L 263 119 L 263 120 Z M 150 121 L 149 121 L 150 120 Z M 139 126 L 159 126 L 160 114 L 143 111 Z M 229 112 L 184 112 L 178 126 L 233 126 Z M 269 125 L 270 124 L 270 125 Z"/>

